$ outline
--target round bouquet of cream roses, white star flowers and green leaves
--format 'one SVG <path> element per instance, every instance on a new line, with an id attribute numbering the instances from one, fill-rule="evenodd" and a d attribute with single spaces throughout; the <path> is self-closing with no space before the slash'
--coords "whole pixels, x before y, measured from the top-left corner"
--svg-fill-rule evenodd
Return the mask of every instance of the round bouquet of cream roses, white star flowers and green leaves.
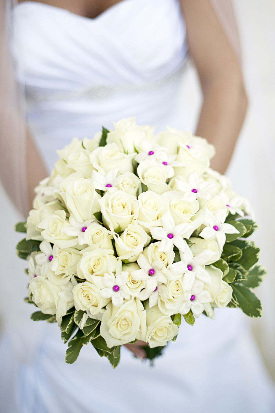
<path id="1" fill-rule="evenodd" d="M 120 346 L 136 340 L 152 360 L 181 319 L 214 319 L 217 307 L 260 317 L 251 289 L 266 270 L 247 240 L 257 225 L 247 199 L 209 168 L 214 147 L 169 127 L 154 135 L 134 118 L 102 129 L 57 151 L 16 225 L 26 232 L 16 246 L 28 260 L 25 301 L 40 309 L 31 318 L 58 323 L 66 362 L 91 342 L 116 367 Z"/>

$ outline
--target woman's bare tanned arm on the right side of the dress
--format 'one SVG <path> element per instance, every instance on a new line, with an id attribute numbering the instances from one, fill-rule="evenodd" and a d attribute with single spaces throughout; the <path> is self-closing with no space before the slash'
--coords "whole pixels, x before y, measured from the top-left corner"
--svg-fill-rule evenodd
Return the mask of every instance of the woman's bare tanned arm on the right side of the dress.
<path id="1" fill-rule="evenodd" d="M 181 0 L 181 6 L 203 92 L 196 135 L 215 145 L 211 166 L 224 173 L 247 108 L 240 66 L 209 0 Z"/>

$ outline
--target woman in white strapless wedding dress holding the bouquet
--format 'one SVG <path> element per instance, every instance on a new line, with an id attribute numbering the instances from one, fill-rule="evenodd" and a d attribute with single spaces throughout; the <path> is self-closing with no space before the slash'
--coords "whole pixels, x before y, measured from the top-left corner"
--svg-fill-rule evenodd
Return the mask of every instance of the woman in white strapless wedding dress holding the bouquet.
<path id="1" fill-rule="evenodd" d="M 15 176 L 14 186 L 7 173 L 17 159 L 17 170 L 24 170 L 25 144 L 31 201 L 34 186 L 57 160 L 56 149 L 74 136 L 92 138 L 102 125 L 112 128 L 111 120 L 129 116 L 139 124 L 156 124 L 157 131 L 166 125 L 185 129 L 179 90 L 187 53 L 203 91 L 196 134 L 216 147 L 212 167 L 226 171 L 247 98 L 234 47 L 209 0 L 20 1 L 10 17 L 16 78 L 26 90 L 28 133 L 26 142 L 24 133 L 20 141 L 16 135 L 13 152 L 1 151 L 0 172 L 25 214 L 24 173 Z M 4 229 L 6 221 L 18 219 L 7 199 L 1 219 Z M 143 358 L 140 343 L 124 347 L 115 370 L 92 346 L 66 365 L 58 327 L 29 322 L 31 309 L 17 303 L 26 295 L 27 280 L 22 284 L 22 265 L 13 262 L 11 248 L 9 242 L 1 247 L 1 282 L 7 292 L 0 353 L 3 412 L 274 411 L 273 389 L 240 310 L 217 309 L 215 322 L 200 317 L 194 327 L 182 325 L 153 368 L 132 356 Z M 7 281 L 11 273 L 12 287 Z M 5 305 L 11 294 L 13 309 Z"/>

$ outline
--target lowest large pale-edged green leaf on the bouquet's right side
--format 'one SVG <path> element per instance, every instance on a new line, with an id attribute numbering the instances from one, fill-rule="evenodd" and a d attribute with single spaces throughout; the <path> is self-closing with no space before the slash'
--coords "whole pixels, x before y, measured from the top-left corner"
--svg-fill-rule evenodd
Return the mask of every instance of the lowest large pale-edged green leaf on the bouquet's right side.
<path id="1" fill-rule="evenodd" d="M 232 288 L 240 309 L 242 309 L 242 311 L 249 317 L 261 317 L 262 305 L 259 298 L 244 285 L 233 284 Z"/>

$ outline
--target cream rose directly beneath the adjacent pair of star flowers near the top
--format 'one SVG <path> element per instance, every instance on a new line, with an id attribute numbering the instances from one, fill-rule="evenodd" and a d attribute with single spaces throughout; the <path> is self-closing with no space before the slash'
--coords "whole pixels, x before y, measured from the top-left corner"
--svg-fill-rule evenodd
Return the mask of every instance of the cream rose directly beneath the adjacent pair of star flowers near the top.
<path id="1" fill-rule="evenodd" d="M 160 195 L 170 190 L 166 180 L 171 177 L 166 166 L 154 164 L 151 161 L 141 161 L 137 167 L 137 173 L 148 190 Z"/>

